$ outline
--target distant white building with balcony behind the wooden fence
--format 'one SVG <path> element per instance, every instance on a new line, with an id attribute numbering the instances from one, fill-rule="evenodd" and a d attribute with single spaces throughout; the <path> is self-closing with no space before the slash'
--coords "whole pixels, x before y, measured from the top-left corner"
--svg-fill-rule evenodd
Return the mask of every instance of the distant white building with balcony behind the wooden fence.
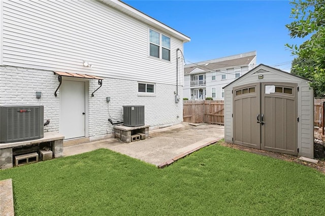
<path id="1" fill-rule="evenodd" d="M 184 66 L 183 97 L 223 100 L 222 87 L 256 66 L 256 51 Z"/>

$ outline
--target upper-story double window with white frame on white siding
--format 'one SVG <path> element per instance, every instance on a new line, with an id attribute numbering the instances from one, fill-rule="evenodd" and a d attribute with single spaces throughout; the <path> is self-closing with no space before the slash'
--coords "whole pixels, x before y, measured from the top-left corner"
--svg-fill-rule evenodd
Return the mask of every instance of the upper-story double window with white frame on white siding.
<path id="1" fill-rule="evenodd" d="M 170 61 L 171 39 L 158 31 L 149 29 L 149 55 Z"/>

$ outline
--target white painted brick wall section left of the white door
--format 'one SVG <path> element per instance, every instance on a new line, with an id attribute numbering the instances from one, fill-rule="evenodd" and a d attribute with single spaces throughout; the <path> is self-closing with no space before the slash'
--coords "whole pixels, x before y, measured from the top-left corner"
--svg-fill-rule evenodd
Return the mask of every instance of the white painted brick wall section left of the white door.
<path id="1" fill-rule="evenodd" d="M 44 121 L 50 124 L 44 132 L 59 129 L 59 94 L 54 96 L 59 85 L 53 71 L 0 66 L 0 105 L 44 105 Z M 40 99 L 36 92 L 41 91 Z"/>

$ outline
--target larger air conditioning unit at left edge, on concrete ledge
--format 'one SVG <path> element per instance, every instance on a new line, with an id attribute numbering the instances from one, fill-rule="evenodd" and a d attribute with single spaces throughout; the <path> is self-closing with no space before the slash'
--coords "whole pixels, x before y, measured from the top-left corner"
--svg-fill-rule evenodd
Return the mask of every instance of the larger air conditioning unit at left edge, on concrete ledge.
<path id="1" fill-rule="evenodd" d="M 0 143 L 44 137 L 44 106 L 0 106 Z"/>

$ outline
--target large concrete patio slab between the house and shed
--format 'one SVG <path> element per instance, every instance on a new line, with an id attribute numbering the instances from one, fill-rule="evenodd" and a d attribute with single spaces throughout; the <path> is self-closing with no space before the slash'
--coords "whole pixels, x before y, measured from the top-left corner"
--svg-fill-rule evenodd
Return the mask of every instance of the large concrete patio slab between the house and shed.
<path id="1" fill-rule="evenodd" d="M 224 136 L 224 128 L 213 124 L 178 124 L 149 131 L 149 138 L 124 143 L 111 138 L 63 148 L 64 156 L 106 148 L 156 166 L 169 165 L 173 159 L 185 157 Z"/>

